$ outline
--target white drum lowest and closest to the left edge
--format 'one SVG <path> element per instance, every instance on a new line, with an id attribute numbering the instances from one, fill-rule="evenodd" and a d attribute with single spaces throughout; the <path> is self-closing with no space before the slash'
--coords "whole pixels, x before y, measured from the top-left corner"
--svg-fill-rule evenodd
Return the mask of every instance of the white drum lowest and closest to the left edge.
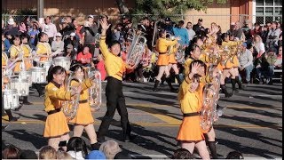
<path id="1" fill-rule="evenodd" d="M 19 94 L 17 90 L 2 90 L 4 109 L 15 109 L 20 107 Z"/>

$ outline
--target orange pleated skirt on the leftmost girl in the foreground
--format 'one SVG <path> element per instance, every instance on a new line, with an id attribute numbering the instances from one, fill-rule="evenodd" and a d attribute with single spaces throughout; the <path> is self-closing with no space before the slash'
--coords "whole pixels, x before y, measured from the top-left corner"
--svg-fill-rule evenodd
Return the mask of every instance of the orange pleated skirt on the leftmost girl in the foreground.
<path id="1" fill-rule="evenodd" d="M 66 116 L 62 111 L 48 115 L 44 125 L 43 137 L 52 138 L 70 132 Z"/>

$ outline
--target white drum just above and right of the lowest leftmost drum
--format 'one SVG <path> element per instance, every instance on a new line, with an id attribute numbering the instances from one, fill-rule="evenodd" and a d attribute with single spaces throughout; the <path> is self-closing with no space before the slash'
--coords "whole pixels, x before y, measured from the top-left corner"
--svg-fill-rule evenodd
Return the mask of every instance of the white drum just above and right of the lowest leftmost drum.
<path id="1" fill-rule="evenodd" d="M 19 96 L 28 96 L 29 92 L 28 79 L 20 79 L 20 78 L 11 79 L 9 86 L 11 89 L 17 90 Z"/>

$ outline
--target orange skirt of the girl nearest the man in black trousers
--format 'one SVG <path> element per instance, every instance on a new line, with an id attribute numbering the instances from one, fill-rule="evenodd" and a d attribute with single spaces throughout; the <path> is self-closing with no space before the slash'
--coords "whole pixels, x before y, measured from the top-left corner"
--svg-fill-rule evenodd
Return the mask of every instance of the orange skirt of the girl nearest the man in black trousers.
<path id="1" fill-rule="evenodd" d="M 79 104 L 75 118 L 69 121 L 70 124 L 88 125 L 94 123 L 94 118 L 91 115 L 91 107 L 89 103 Z"/>

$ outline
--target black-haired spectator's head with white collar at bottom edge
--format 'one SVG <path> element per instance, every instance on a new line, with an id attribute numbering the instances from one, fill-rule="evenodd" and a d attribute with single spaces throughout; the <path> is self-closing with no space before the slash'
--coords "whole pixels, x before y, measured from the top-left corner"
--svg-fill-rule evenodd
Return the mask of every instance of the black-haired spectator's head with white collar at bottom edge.
<path id="1" fill-rule="evenodd" d="M 67 153 L 75 159 L 84 159 L 88 155 L 85 141 L 80 137 L 72 137 L 67 143 Z"/>

